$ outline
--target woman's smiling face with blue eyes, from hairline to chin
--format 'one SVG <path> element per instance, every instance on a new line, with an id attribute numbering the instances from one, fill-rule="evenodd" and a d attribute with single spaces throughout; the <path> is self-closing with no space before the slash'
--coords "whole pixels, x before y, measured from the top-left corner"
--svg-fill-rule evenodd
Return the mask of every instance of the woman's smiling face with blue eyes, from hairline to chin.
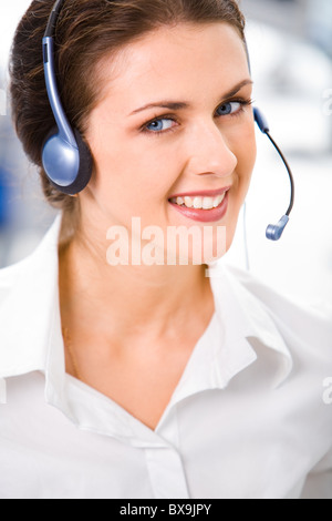
<path id="1" fill-rule="evenodd" d="M 209 226 L 211 242 L 224 226 L 228 249 L 256 160 L 239 34 L 226 23 L 162 28 L 102 70 L 103 96 L 87 121 L 95 168 L 81 194 L 83 218 L 131 233 L 138 217 L 141 229 L 153 225 L 164 237 L 174 226 Z"/>

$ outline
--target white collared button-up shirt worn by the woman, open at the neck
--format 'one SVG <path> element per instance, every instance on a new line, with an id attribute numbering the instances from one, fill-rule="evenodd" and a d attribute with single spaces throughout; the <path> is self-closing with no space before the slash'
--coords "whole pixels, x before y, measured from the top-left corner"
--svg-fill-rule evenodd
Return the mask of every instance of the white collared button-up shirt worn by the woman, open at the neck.
<path id="1" fill-rule="evenodd" d="M 0 272 L 0 498 L 332 499 L 331 317 L 211 267 L 215 315 L 152 430 L 65 372 L 60 219 Z"/>

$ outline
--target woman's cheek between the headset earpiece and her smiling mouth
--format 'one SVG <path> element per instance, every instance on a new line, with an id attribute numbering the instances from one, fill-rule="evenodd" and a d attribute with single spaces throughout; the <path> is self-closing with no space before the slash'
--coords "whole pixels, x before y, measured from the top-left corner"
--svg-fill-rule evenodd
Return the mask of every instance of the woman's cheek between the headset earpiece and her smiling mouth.
<path id="1" fill-rule="evenodd" d="M 98 133 L 97 140 L 94 135 L 90 190 L 110 221 L 127 223 L 137 216 L 149 225 L 163 219 L 167 194 L 178 177 L 178 161 L 153 141 L 131 140 L 120 132 Z"/>

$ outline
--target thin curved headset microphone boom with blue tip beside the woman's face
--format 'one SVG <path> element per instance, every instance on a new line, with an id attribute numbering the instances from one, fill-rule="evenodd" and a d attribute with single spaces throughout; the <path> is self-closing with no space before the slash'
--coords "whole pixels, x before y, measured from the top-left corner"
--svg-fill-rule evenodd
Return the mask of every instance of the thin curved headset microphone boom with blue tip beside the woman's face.
<path id="1" fill-rule="evenodd" d="M 288 207 L 288 211 L 286 212 L 286 214 L 281 217 L 281 219 L 279 221 L 278 224 L 269 224 L 269 226 L 267 227 L 267 232 L 266 232 L 266 235 L 267 235 L 267 238 L 269 241 L 279 241 L 284 232 L 284 228 L 286 226 L 288 225 L 289 223 L 289 218 L 290 218 L 290 214 L 293 210 L 293 205 L 294 205 L 294 194 L 295 194 L 295 184 L 294 184 L 294 178 L 293 178 L 293 174 L 292 174 L 292 171 L 284 157 L 284 155 L 282 154 L 281 150 L 279 149 L 279 146 L 277 145 L 276 141 L 271 137 L 270 135 L 270 129 L 269 129 L 269 123 L 267 121 L 267 119 L 264 118 L 264 115 L 262 114 L 262 112 L 255 108 L 253 109 L 253 115 L 255 115 L 255 121 L 256 123 L 258 124 L 260 131 L 266 134 L 269 140 L 271 141 L 272 145 L 274 146 L 274 149 L 277 150 L 278 154 L 280 155 L 287 171 L 288 171 L 288 175 L 289 175 L 289 178 L 290 178 L 290 184 L 291 184 L 291 196 L 290 196 L 290 205 Z"/>

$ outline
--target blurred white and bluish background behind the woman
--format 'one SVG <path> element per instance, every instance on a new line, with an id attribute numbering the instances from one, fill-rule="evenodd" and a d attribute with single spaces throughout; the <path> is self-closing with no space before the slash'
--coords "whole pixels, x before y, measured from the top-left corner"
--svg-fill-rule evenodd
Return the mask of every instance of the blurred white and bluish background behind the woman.
<path id="1" fill-rule="evenodd" d="M 241 0 L 256 83 L 255 101 L 292 166 L 297 197 L 282 241 L 264 238 L 289 203 L 284 166 L 257 131 L 258 161 L 234 247 L 226 262 L 250 269 L 303 303 L 331 305 L 332 296 L 332 1 Z M 30 0 L 0 7 L 0 267 L 38 245 L 55 217 L 43 200 L 10 120 L 6 90 L 15 25 Z"/>

